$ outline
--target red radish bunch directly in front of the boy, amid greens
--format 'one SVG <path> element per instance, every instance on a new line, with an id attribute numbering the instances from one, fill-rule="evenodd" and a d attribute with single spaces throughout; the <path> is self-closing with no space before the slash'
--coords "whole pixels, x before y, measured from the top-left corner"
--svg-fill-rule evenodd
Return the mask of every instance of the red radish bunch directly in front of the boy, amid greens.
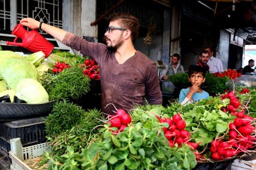
<path id="1" fill-rule="evenodd" d="M 164 136 L 168 139 L 169 145 L 173 147 L 175 143 L 178 144 L 178 146 L 181 146 L 181 144 L 188 144 L 193 149 L 197 149 L 197 146 L 199 143 L 193 143 L 190 142 L 190 133 L 185 130 L 186 123 L 182 119 L 180 114 L 173 115 L 171 118 L 161 118 L 158 115 L 155 115 L 157 119 L 159 119 L 160 123 L 168 123 L 169 127 L 163 128 Z"/>

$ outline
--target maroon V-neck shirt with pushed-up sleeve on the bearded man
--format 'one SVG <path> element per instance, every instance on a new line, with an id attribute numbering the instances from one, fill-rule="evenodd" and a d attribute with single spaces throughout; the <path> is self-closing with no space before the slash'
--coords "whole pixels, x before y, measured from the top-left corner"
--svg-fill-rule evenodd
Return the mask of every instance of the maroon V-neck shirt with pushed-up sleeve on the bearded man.
<path id="1" fill-rule="evenodd" d="M 125 63 L 119 64 L 114 51 L 109 51 L 105 44 L 86 41 L 70 32 L 62 43 L 95 58 L 99 64 L 102 112 L 114 115 L 115 109 L 113 105 L 108 105 L 109 103 L 113 103 L 117 109 L 129 111 L 135 105 L 143 105 L 145 97 L 152 105 L 162 103 L 157 68 L 154 62 L 140 51 Z"/>

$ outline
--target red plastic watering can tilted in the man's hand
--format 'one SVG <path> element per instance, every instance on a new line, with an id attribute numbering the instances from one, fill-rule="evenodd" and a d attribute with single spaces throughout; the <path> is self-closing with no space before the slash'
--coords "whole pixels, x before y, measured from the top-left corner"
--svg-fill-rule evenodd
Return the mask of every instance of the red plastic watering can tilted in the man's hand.
<path id="1" fill-rule="evenodd" d="M 42 37 L 36 30 L 28 32 L 21 24 L 16 25 L 11 34 L 16 35 L 16 38 L 13 42 L 6 41 L 7 45 L 23 46 L 33 53 L 42 51 L 45 54 L 45 58 L 54 50 L 54 45 Z M 16 42 L 18 38 L 20 38 L 22 42 Z"/>

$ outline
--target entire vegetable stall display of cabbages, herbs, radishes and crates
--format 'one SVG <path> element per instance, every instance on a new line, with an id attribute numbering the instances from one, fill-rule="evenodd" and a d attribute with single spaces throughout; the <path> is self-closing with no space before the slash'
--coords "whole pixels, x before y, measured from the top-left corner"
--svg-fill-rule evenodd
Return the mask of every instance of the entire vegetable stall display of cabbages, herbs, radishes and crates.
<path id="1" fill-rule="evenodd" d="M 240 80 L 245 77 L 207 74 L 204 85 L 211 94 L 207 100 L 188 105 L 138 105 L 130 112 L 119 108 L 113 116 L 92 105 L 81 105 L 92 100 L 87 94 L 100 93 L 94 89 L 99 88 L 100 79 L 95 60 L 61 51 L 43 60 L 42 56 L 33 55 L 31 60 L 31 55 L 11 51 L 0 51 L 3 60 L 1 56 L 5 58 L 0 67 L 2 81 L 8 88 L 1 91 L 3 104 L 18 105 L 14 96 L 23 105 L 52 104 L 43 119 L 44 140 L 24 143 L 21 136 L 6 140 L 13 169 L 34 169 L 35 164 L 47 169 L 224 169 L 255 152 L 256 89 L 253 83 L 249 86 Z M 27 67 L 19 72 L 8 70 L 11 60 L 19 61 L 11 63 L 11 68 L 23 62 Z M 24 70 L 28 77 L 21 74 Z M 32 79 L 32 70 L 37 70 L 36 79 Z M 177 76 L 181 78 L 170 77 L 173 84 L 188 85 L 187 74 Z M 251 76 L 253 81 L 255 76 Z M 35 125 L 39 124 L 30 129 Z M 38 154 L 34 157 L 25 150 Z"/>

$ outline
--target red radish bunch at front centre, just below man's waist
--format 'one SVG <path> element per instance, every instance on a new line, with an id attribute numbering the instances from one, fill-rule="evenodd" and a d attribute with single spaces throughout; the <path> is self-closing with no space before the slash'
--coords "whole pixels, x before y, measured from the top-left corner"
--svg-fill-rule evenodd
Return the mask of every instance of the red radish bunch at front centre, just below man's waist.
<path id="1" fill-rule="evenodd" d="M 120 131 L 123 131 L 128 126 L 128 124 L 130 124 L 130 122 L 132 121 L 130 115 L 128 115 L 126 110 L 123 110 L 123 109 L 116 110 L 116 115 L 111 115 L 110 117 L 111 118 L 109 119 L 109 122 L 107 122 L 107 124 L 110 123 L 110 126 L 109 126 L 110 128 L 111 127 L 117 128 L 116 131 L 109 129 L 115 135 L 118 134 Z"/>

